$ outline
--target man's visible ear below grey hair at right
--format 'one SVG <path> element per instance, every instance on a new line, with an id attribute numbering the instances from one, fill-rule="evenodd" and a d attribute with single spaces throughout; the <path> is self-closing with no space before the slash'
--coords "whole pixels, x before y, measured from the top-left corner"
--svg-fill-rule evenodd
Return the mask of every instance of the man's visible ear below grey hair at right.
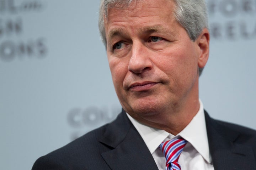
<path id="1" fill-rule="evenodd" d="M 210 41 L 210 33 L 207 28 L 204 28 L 202 33 L 196 39 L 197 45 L 200 49 L 198 55 L 198 67 L 203 68 L 209 57 L 209 41 Z"/>

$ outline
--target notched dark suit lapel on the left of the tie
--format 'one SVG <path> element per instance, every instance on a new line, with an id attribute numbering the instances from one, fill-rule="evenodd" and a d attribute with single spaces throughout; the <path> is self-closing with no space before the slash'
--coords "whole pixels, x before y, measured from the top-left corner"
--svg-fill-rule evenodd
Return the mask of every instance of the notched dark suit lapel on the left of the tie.
<path id="1" fill-rule="evenodd" d="M 148 147 L 124 111 L 108 126 L 100 142 L 112 148 L 101 154 L 112 170 L 158 169 Z"/>

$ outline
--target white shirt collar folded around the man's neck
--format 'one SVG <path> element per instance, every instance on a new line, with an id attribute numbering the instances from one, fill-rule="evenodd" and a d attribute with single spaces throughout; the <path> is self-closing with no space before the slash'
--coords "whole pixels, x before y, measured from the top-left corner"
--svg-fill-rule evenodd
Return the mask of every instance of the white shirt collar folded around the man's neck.
<path id="1" fill-rule="evenodd" d="M 199 100 L 200 107 L 197 114 L 190 121 L 190 123 L 184 128 L 178 135 L 181 136 L 185 140 L 191 143 L 191 145 L 197 150 L 199 154 L 208 162 L 212 162 L 212 158 L 209 152 L 207 131 L 206 131 L 206 123 L 204 118 L 204 109 L 203 103 Z M 127 114 L 127 113 L 126 113 Z M 159 147 L 159 145 L 164 141 L 167 137 L 172 138 L 175 137 L 168 132 L 156 128 L 152 128 L 150 126 L 144 125 L 134 118 L 132 118 L 129 114 L 127 114 L 128 118 L 135 126 L 140 136 L 142 136 L 146 146 L 149 148 L 151 154 Z"/>

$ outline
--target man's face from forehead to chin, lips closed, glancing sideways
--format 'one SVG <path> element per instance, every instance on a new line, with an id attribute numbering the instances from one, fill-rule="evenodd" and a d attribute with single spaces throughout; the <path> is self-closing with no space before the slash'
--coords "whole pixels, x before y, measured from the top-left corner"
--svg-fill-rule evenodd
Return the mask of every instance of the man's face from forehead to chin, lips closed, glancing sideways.
<path id="1" fill-rule="evenodd" d="M 126 9 L 108 10 L 105 31 L 113 84 L 122 107 L 134 118 L 174 112 L 188 101 L 198 102 L 202 50 L 173 12 L 170 0 L 133 2 Z"/>

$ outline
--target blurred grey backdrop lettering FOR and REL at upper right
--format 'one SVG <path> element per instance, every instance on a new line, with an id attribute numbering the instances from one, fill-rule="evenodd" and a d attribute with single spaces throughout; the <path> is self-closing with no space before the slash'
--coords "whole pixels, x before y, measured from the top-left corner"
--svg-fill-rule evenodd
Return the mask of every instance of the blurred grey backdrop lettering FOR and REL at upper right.
<path id="1" fill-rule="evenodd" d="M 255 39 L 256 0 L 208 0 L 213 39 Z"/>

